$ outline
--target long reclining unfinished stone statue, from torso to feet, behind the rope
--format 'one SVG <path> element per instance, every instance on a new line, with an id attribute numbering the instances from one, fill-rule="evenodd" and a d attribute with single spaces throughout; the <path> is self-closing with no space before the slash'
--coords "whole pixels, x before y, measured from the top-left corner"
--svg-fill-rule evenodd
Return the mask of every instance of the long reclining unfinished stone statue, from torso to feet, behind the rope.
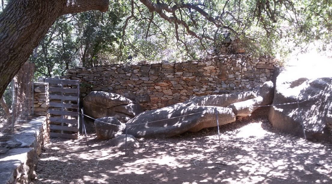
<path id="1" fill-rule="evenodd" d="M 273 100 L 273 83 L 265 82 L 253 91 L 223 95 L 193 97 L 168 107 L 143 112 L 127 122 L 128 134 L 135 137 L 165 138 L 183 132 L 198 132 L 203 128 L 235 121 L 235 116 L 250 115 L 256 106 Z M 242 104 L 241 104 L 242 103 Z M 242 113 L 239 113 L 242 112 Z"/>

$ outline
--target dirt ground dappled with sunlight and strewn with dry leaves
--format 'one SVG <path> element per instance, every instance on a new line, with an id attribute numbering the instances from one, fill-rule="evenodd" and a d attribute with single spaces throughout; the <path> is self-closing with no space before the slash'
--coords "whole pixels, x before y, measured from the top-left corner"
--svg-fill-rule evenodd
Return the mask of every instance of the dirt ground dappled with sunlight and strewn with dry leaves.
<path id="1" fill-rule="evenodd" d="M 88 135 L 51 139 L 34 183 L 332 183 L 332 145 L 274 130 L 268 108 L 197 133 L 123 150 Z"/>

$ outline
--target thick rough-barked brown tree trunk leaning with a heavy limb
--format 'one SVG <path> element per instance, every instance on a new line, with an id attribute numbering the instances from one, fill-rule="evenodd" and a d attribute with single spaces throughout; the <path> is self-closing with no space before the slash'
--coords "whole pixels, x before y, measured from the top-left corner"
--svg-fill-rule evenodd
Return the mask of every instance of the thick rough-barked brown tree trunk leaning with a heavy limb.
<path id="1" fill-rule="evenodd" d="M 109 0 L 13 0 L 0 14 L 0 96 L 56 18 L 107 11 Z"/>

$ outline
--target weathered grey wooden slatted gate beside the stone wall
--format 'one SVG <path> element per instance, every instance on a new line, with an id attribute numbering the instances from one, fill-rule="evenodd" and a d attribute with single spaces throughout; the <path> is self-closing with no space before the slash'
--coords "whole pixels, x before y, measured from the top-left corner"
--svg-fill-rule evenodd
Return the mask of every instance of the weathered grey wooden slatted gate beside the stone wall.
<path id="1" fill-rule="evenodd" d="M 49 103 L 48 114 L 50 115 L 50 137 L 78 139 L 80 94 L 79 81 L 46 78 L 45 82 L 53 84 L 48 87 L 49 93 L 58 93 L 50 94 L 50 101 L 60 100 L 60 102 Z M 69 109 L 71 111 L 69 111 Z M 55 115 L 57 117 L 52 117 Z"/>

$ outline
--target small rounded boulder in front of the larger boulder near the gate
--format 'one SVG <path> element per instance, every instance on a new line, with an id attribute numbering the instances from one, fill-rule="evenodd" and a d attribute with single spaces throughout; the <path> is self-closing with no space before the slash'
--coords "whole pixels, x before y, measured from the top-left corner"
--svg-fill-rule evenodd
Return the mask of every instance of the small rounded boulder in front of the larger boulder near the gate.
<path id="1" fill-rule="evenodd" d="M 112 139 L 124 131 L 125 124 L 116 117 L 103 117 L 95 120 L 97 139 Z"/>

